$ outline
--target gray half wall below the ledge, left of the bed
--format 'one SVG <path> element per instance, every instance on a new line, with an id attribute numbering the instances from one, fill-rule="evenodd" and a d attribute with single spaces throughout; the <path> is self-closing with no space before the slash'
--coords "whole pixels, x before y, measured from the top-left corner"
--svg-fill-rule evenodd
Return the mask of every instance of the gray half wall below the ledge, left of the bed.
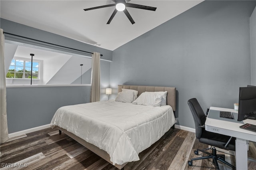
<path id="1" fill-rule="evenodd" d="M 59 107 L 89 99 L 90 86 L 6 88 L 8 132 L 50 124 Z"/>

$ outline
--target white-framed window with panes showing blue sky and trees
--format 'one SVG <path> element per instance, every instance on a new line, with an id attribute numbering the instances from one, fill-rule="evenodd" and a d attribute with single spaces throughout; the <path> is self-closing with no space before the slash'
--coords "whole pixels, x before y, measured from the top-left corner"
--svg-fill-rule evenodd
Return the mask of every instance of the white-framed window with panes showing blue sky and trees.
<path id="1" fill-rule="evenodd" d="M 39 79 L 39 66 L 40 62 L 27 61 L 21 59 L 12 59 L 6 78 L 12 79 L 31 79 L 31 66 L 32 66 L 32 79 Z"/>

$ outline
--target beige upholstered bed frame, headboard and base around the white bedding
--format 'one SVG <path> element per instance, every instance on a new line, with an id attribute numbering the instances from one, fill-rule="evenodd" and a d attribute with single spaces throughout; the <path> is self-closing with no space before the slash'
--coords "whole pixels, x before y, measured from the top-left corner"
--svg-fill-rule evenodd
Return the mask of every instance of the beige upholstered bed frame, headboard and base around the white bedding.
<path id="1" fill-rule="evenodd" d="M 166 100 L 167 101 L 167 105 L 170 105 L 172 107 L 173 111 L 176 111 L 176 88 L 175 87 L 118 85 L 118 93 L 121 92 L 122 89 L 137 90 L 138 91 L 138 96 L 141 93 L 145 92 L 145 91 L 167 91 L 167 100 Z M 71 132 L 68 132 L 64 128 L 61 128 L 61 127 L 58 127 L 58 126 L 56 126 L 56 128 L 58 128 L 60 134 L 61 134 L 61 132 L 64 132 L 65 134 L 67 134 L 68 136 L 70 136 L 71 138 L 76 140 L 78 143 L 82 144 L 83 146 L 85 146 L 86 148 L 88 148 L 89 150 L 91 150 L 92 152 L 94 152 L 95 154 L 97 154 L 98 156 L 103 158 L 104 160 L 108 161 L 110 164 L 113 164 L 110 161 L 110 156 L 109 156 L 109 154 L 106 151 L 98 148 L 97 146 L 94 146 L 93 144 L 90 144 L 90 143 L 86 142 L 82 138 L 76 136 L 75 134 L 73 134 Z M 159 142 L 159 140 L 157 142 Z M 148 149 L 142 151 L 143 153 L 139 154 L 139 157 L 141 158 L 141 156 L 149 155 L 150 152 L 152 152 L 152 150 L 154 150 L 154 147 L 156 147 L 156 143 L 153 144 L 152 146 L 150 146 Z M 131 164 L 132 162 L 127 162 L 127 163 L 124 163 L 122 165 L 115 164 L 114 166 L 116 166 L 116 168 L 118 168 L 118 169 L 124 169 L 124 168 L 126 168 L 125 165 L 128 164 L 128 163 L 130 164 L 129 167 L 131 167 L 132 166 L 132 164 Z"/>

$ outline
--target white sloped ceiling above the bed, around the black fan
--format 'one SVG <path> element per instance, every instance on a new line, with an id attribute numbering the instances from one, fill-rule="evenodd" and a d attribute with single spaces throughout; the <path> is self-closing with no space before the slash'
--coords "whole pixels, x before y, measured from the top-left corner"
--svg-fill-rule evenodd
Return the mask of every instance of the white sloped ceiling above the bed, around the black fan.
<path id="1" fill-rule="evenodd" d="M 131 0 L 129 3 L 156 7 L 156 11 L 127 8 L 135 21 L 115 7 L 84 11 L 113 4 L 111 0 L 0 0 L 0 17 L 109 50 L 152 30 L 203 0 Z"/>

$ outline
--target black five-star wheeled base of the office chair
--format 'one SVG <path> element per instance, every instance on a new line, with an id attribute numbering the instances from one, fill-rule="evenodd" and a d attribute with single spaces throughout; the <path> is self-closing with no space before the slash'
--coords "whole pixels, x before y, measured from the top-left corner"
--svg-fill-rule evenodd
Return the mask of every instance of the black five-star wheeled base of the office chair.
<path id="1" fill-rule="evenodd" d="M 213 163 L 215 164 L 215 166 L 216 166 L 216 168 L 217 168 L 218 170 L 219 170 L 220 168 L 219 168 L 219 165 L 218 165 L 217 160 L 223 162 L 224 164 L 230 166 L 230 167 L 233 168 L 233 169 L 236 169 L 235 166 L 233 166 L 232 164 L 230 164 L 230 163 L 228 163 L 228 162 L 225 161 L 225 155 L 224 155 L 224 154 L 217 154 L 216 148 L 215 148 L 214 146 L 211 147 L 211 148 L 208 148 L 208 149 L 212 149 L 212 153 L 206 152 L 206 151 L 205 151 L 206 149 L 205 149 L 205 150 L 201 150 L 201 149 L 195 150 L 194 153 L 195 153 L 196 155 L 198 155 L 198 151 L 200 151 L 200 152 L 203 152 L 203 153 L 207 154 L 208 156 L 202 156 L 202 157 L 198 157 L 198 158 L 192 158 L 191 160 L 188 161 L 188 165 L 189 165 L 189 166 L 192 166 L 193 160 L 201 160 L 201 159 L 212 158 Z"/>

